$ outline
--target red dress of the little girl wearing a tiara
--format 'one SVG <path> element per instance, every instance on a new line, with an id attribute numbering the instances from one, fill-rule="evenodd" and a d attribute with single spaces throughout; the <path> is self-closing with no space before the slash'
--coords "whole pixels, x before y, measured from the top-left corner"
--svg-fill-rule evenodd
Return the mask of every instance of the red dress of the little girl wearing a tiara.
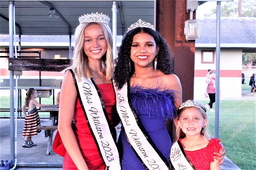
<path id="1" fill-rule="evenodd" d="M 208 145 L 205 148 L 198 149 L 195 151 L 186 151 L 185 146 L 181 142 L 186 156 L 189 158 L 189 161 L 194 165 L 196 170 L 210 170 L 210 163 L 213 162 L 213 152 L 219 152 L 221 146 L 219 144 L 220 140 L 213 138 L 209 140 Z"/>

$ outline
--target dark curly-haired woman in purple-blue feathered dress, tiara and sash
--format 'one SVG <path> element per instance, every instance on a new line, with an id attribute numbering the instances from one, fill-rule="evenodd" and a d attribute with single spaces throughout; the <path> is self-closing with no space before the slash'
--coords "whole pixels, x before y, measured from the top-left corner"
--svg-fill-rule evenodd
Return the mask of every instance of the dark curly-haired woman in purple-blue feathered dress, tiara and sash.
<path id="1" fill-rule="evenodd" d="M 165 125 L 177 122 L 182 89 L 170 47 L 151 24 L 139 20 L 128 28 L 114 81 L 122 170 L 168 170 L 172 141 Z"/>

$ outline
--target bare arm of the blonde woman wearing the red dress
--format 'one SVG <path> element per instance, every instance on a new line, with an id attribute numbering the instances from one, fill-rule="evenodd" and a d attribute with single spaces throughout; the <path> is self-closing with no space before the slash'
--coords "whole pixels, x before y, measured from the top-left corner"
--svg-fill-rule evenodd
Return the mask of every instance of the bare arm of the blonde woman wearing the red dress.
<path id="1" fill-rule="evenodd" d="M 61 85 L 58 131 L 63 144 L 79 170 L 88 170 L 82 153 L 79 149 L 71 124 L 77 100 L 76 86 L 69 70 L 64 75 Z"/>

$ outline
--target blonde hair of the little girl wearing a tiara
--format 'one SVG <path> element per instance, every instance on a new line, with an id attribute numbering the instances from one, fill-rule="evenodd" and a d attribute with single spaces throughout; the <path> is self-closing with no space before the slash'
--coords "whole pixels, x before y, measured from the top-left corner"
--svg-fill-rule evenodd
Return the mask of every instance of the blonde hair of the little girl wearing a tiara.
<path id="1" fill-rule="evenodd" d="M 186 102 L 186 101 L 185 101 L 185 102 Z M 195 108 L 196 110 L 198 110 L 198 111 L 202 114 L 202 116 L 203 116 L 204 119 L 207 119 L 207 120 L 208 120 L 208 116 L 207 116 L 207 114 L 206 114 L 206 108 L 204 107 L 204 105 L 201 104 L 201 103 L 199 103 L 199 102 L 195 102 L 195 101 L 192 101 L 192 102 L 198 104 L 198 105 L 201 107 L 201 108 L 198 108 L 198 107 L 194 107 L 194 108 Z M 177 110 L 178 120 L 180 119 L 180 116 L 181 116 L 182 112 L 183 112 L 184 110 L 188 109 L 188 108 L 191 108 L 191 107 L 183 107 L 183 108 Z M 205 140 L 210 140 L 210 139 L 213 138 L 213 137 L 210 135 L 210 132 L 208 131 L 208 121 L 207 121 L 205 127 L 202 128 L 201 134 L 204 135 L 204 139 L 205 139 Z M 177 140 L 179 140 L 180 138 L 186 137 L 186 134 L 182 131 L 181 128 L 177 127 L 177 128 L 176 128 L 176 136 L 177 136 Z"/>

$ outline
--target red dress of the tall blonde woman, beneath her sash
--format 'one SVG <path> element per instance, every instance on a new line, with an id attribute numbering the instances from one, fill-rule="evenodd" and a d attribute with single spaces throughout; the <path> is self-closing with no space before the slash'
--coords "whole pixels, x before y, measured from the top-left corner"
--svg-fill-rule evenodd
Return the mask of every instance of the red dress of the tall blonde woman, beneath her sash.
<path id="1" fill-rule="evenodd" d="M 110 123 L 113 130 L 115 130 L 114 120 L 112 118 L 112 110 L 115 109 L 114 106 L 116 104 L 113 85 L 99 84 L 97 87 L 100 90 Z M 88 168 L 90 170 L 104 170 L 105 163 L 98 152 L 93 137 L 91 136 L 79 99 L 76 101 L 74 119 L 76 120 L 76 130 L 74 130 L 74 134 Z M 64 155 L 63 170 L 77 170 L 76 165 L 67 152 Z"/>

